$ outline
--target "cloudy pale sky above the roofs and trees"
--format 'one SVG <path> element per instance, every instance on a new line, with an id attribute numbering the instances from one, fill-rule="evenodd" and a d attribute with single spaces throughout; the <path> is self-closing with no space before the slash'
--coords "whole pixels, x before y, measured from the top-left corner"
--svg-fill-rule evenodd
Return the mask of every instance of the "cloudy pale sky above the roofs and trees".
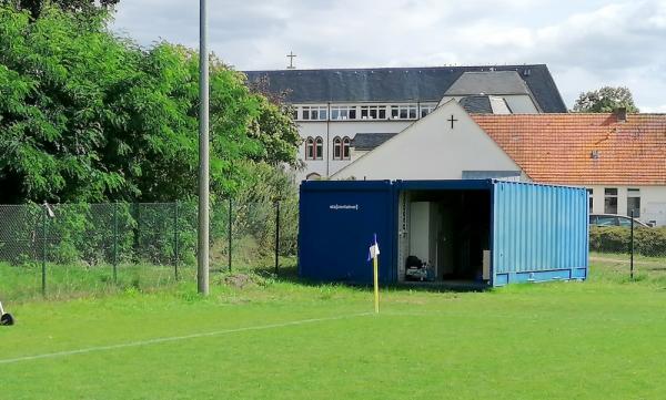
<path id="1" fill-rule="evenodd" d="M 210 47 L 239 70 L 545 63 L 567 106 L 626 85 L 666 112 L 666 0 L 209 0 Z M 198 47 L 199 1 L 121 0 L 115 31 Z"/>

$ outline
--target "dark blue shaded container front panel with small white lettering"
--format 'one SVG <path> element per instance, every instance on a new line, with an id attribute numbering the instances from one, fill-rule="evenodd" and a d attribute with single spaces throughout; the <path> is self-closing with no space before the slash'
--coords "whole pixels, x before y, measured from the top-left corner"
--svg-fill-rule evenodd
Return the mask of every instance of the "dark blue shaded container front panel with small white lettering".
<path id="1" fill-rule="evenodd" d="M 380 281 L 395 281 L 395 212 L 390 181 L 307 181 L 301 184 L 299 275 L 325 281 L 372 284 L 367 261 L 380 245 Z"/>

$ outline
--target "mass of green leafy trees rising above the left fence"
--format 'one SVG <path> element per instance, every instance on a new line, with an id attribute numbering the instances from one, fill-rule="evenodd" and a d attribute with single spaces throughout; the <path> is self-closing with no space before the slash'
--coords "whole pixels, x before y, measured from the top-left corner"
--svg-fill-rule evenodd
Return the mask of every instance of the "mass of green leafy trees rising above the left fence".
<path id="1" fill-rule="evenodd" d="M 198 54 L 117 38 L 105 16 L 0 6 L 0 203 L 165 202 L 198 187 Z M 283 110 L 212 58 L 211 187 L 296 164 Z"/>

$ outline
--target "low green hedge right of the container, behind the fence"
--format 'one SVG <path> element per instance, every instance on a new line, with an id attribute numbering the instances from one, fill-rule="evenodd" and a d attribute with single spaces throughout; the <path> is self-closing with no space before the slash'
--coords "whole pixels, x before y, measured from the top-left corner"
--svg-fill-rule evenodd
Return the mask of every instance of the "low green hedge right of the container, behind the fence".
<path id="1" fill-rule="evenodd" d="M 630 229 L 627 227 L 589 228 L 589 249 L 602 253 L 629 252 Z M 666 228 L 634 229 L 634 250 L 644 256 L 666 256 Z"/>

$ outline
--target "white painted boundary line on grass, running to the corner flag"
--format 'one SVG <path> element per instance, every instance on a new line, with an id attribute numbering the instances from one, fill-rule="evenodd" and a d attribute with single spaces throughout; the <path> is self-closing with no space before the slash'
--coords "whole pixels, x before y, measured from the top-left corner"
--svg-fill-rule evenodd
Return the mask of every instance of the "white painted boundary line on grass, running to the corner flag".
<path id="1" fill-rule="evenodd" d="M 130 342 L 127 342 L 127 343 L 119 343 L 119 345 L 89 347 L 89 348 L 78 349 L 78 350 L 47 352 L 47 353 L 43 353 L 43 355 L 34 355 L 34 356 L 26 356 L 26 357 L 0 359 L 0 365 L 14 363 L 14 362 L 21 362 L 21 361 L 40 360 L 40 359 L 44 359 L 44 358 L 56 358 L 56 357 L 65 357 L 65 356 L 74 356 L 74 355 L 84 355 L 84 353 L 88 353 L 88 352 L 95 352 L 95 351 L 117 350 L 117 349 L 124 349 L 124 348 L 128 348 L 128 347 L 140 347 L 140 346 L 159 345 L 159 343 L 167 343 L 167 342 L 170 342 L 170 341 L 180 341 L 180 340 L 188 340 L 188 339 L 206 338 L 206 337 L 212 337 L 212 336 L 221 336 L 221 335 L 229 335 L 229 334 L 246 332 L 246 331 L 252 331 L 252 330 L 265 330 L 265 329 L 274 329 L 274 328 L 283 328 L 283 327 L 297 326 L 297 325 L 305 325 L 305 324 L 334 321 L 334 320 L 339 320 L 339 319 L 347 319 L 347 318 L 363 317 L 363 316 L 370 316 L 370 315 L 374 315 L 374 312 L 361 312 L 361 314 L 351 314 L 351 315 L 337 316 L 337 317 L 301 319 L 301 320 L 297 320 L 297 321 L 281 322 L 281 324 L 271 324 L 271 325 L 260 325 L 260 326 L 256 326 L 256 327 L 224 329 L 224 330 L 215 330 L 215 331 L 212 331 L 212 332 L 192 334 L 192 335 L 185 335 L 185 336 L 172 336 L 172 337 L 167 337 L 167 338 L 157 338 L 157 339 L 140 340 L 140 341 L 130 341 Z"/>

